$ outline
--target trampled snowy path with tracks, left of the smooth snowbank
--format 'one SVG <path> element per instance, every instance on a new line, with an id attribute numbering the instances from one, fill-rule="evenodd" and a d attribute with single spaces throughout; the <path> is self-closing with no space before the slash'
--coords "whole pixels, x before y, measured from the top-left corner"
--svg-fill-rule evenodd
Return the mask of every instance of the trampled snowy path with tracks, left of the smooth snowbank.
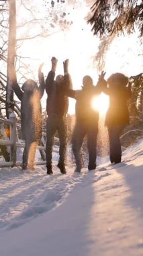
<path id="1" fill-rule="evenodd" d="M 78 176 L 71 169 L 67 172 L 60 174 L 56 166 L 52 176 L 47 176 L 44 166 L 35 172 L 0 170 L 0 228 L 14 228 L 59 205 L 87 174 Z"/>

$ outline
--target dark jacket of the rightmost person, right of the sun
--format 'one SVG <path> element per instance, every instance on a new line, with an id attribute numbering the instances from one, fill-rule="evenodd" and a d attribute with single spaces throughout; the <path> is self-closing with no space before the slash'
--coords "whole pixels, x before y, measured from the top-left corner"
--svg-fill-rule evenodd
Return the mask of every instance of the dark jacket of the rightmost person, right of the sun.
<path id="1" fill-rule="evenodd" d="M 105 118 L 105 125 L 111 127 L 113 125 L 128 125 L 129 112 L 127 102 L 131 97 L 131 90 L 128 87 L 106 88 L 103 90 L 109 95 L 109 108 Z"/>

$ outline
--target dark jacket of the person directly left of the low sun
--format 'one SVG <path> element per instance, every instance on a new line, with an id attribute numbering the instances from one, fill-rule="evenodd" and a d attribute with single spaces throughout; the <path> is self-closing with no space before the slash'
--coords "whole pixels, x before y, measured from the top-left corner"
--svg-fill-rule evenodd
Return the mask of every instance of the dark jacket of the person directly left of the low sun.
<path id="1" fill-rule="evenodd" d="M 97 123 L 99 120 L 98 111 L 91 106 L 93 97 L 101 93 L 99 86 L 89 86 L 89 88 L 82 88 L 82 90 L 68 90 L 67 95 L 77 100 L 75 105 L 75 114 L 77 121 L 84 123 Z"/>

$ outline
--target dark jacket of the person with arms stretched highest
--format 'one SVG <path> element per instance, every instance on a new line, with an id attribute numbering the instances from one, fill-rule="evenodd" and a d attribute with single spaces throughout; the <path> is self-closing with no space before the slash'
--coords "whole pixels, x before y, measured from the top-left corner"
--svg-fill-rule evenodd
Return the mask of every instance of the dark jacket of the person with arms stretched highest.
<path id="1" fill-rule="evenodd" d="M 48 115 L 63 117 L 68 111 L 67 89 L 71 88 L 70 75 L 64 75 L 64 83 L 58 85 L 54 80 L 55 72 L 50 71 L 46 78 L 46 93 L 48 94 L 46 110 Z"/>

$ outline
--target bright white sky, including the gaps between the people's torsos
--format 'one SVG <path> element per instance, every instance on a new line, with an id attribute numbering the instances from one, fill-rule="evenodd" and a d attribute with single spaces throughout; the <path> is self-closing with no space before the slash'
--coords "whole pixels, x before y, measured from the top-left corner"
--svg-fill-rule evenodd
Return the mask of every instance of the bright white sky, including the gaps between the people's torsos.
<path id="1" fill-rule="evenodd" d="M 69 4 L 73 2 L 74 5 Z M 31 5 L 35 5 L 34 1 L 30 1 Z M 38 79 L 38 66 L 44 63 L 42 71 L 44 72 L 44 77 L 48 75 L 51 69 L 51 58 L 54 56 L 58 59 L 58 65 L 56 67 L 56 75 L 59 73 L 63 74 L 63 61 L 69 59 L 69 73 L 72 77 L 73 89 L 81 89 L 82 80 L 84 75 L 91 75 L 93 77 L 94 83 L 97 82 L 98 73 L 95 69 L 91 68 L 93 65 L 92 56 L 97 51 L 97 46 L 99 44 L 99 39 L 93 37 L 91 33 L 91 27 L 87 25 L 85 20 L 87 13 L 89 11 L 89 6 L 85 4 L 85 1 L 68 1 L 68 4 L 58 5 L 52 9 L 52 15 L 55 16 L 56 8 L 58 8 L 59 13 L 66 12 L 67 20 L 71 20 L 73 24 L 68 26 L 64 30 L 59 23 L 56 24 L 54 28 L 49 28 L 51 18 L 46 20 L 46 8 L 42 8 L 42 5 L 37 2 L 38 8 L 40 8 L 40 13 L 38 13 L 38 18 L 45 19 L 44 28 L 48 27 L 48 37 L 46 38 L 36 38 L 35 40 L 26 40 L 21 45 L 19 49 L 19 55 L 28 57 L 27 62 L 30 63 L 30 67 L 33 73 Z M 49 3 L 50 4 L 50 3 Z M 59 8 L 60 6 L 60 8 Z M 91 5 L 90 5 L 91 6 Z M 17 7 L 17 24 L 21 21 L 30 20 L 30 11 L 26 11 L 21 5 Z M 50 8 L 51 11 L 51 8 Z M 69 15 L 67 13 L 70 13 Z M 30 26 L 30 36 L 37 34 L 39 31 L 38 26 Z M 24 37 L 26 31 L 22 32 L 21 28 L 17 30 L 17 38 Z M 87 50 L 88 49 L 88 50 Z M 31 59 L 31 60 L 30 60 Z M 33 76 L 33 73 L 31 75 Z M 28 74 L 28 77 L 30 75 Z M 32 77 L 31 77 L 32 78 Z M 46 109 L 46 93 L 42 98 L 42 108 Z M 69 114 L 75 114 L 75 100 L 69 99 Z"/>

